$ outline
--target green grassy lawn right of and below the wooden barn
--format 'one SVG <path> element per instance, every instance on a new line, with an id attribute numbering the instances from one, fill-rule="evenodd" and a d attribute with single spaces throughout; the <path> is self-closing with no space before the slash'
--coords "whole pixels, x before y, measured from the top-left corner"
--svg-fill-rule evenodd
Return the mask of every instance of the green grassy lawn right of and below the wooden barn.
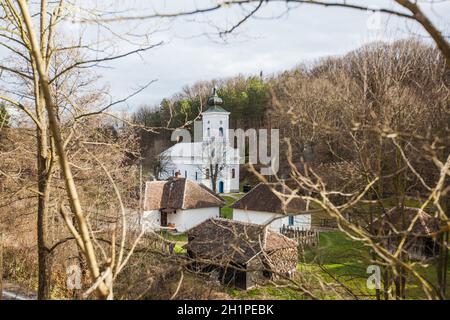
<path id="1" fill-rule="evenodd" d="M 333 292 L 327 292 L 319 286 L 322 282 L 345 290 L 338 281 L 344 284 L 360 299 L 375 299 L 375 290 L 366 286 L 367 267 L 371 264 L 371 257 L 367 247 L 358 241 L 347 237 L 344 233 L 323 232 L 320 234 L 320 246 L 307 249 L 299 254 L 297 265 L 297 281 L 310 284 L 312 291 L 321 299 L 339 298 Z M 435 266 L 416 266 L 416 270 L 430 281 L 436 283 Z M 450 272 L 450 268 L 449 268 Z M 337 281 L 336 281 L 337 280 Z M 248 291 L 226 288 L 226 292 L 236 299 L 283 299 L 301 300 L 305 296 L 301 291 L 287 286 L 275 286 L 268 284 Z M 418 281 L 413 276 L 408 276 L 407 299 L 426 299 Z M 450 285 L 448 287 L 450 290 Z M 348 294 L 348 298 L 351 298 Z"/>

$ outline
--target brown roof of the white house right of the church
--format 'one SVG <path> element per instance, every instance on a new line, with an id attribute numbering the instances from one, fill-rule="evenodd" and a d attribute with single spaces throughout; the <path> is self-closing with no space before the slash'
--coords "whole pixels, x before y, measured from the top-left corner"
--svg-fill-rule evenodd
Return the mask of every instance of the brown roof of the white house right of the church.
<path id="1" fill-rule="evenodd" d="M 281 195 L 275 194 L 273 190 L 276 190 Z M 293 195 L 293 191 L 285 185 L 279 183 L 265 184 L 261 182 L 245 196 L 233 203 L 231 208 L 280 214 L 301 213 L 305 211 L 305 201 L 299 197 L 290 198 L 291 195 Z"/>

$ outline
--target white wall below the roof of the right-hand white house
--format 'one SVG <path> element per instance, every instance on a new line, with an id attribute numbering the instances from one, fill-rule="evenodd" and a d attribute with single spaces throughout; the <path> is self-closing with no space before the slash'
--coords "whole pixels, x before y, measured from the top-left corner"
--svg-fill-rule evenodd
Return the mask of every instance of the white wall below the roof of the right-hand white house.
<path id="1" fill-rule="evenodd" d="M 255 224 L 266 224 L 274 218 L 278 219 L 273 220 L 270 223 L 269 227 L 272 230 L 279 231 L 283 224 L 286 226 L 289 225 L 289 216 L 280 213 L 233 209 L 233 220 L 237 221 Z M 294 226 L 302 228 L 304 230 L 311 229 L 311 215 L 302 214 L 294 216 Z"/>

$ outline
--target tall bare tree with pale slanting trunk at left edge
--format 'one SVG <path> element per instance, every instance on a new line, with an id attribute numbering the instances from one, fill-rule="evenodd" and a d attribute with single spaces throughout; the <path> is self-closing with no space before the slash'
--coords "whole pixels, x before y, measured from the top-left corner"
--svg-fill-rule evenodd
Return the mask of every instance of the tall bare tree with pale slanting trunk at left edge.
<path id="1" fill-rule="evenodd" d="M 49 297 L 49 281 L 51 273 L 51 246 L 48 235 L 48 204 L 49 190 L 52 182 L 53 172 L 56 164 L 59 164 L 62 175 L 65 178 L 65 188 L 69 200 L 70 211 L 74 213 L 76 226 L 64 205 L 61 205 L 61 214 L 77 241 L 81 252 L 86 257 L 95 290 L 100 297 L 112 297 L 112 280 L 123 268 L 126 261 L 124 256 L 125 223 L 122 224 L 121 244 L 117 252 L 118 259 L 110 259 L 110 266 L 106 272 L 109 279 L 109 288 L 105 285 L 105 271 L 100 269 L 100 263 L 96 255 L 89 223 L 83 213 L 79 192 L 73 176 L 73 169 L 67 153 L 67 147 L 78 130 L 81 121 L 88 116 L 99 115 L 106 112 L 120 102 L 121 99 L 112 102 L 101 102 L 97 110 L 86 110 L 80 107 L 82 100 L 76 101 L 74 93 L 77 89 L 86 86 L 91 80 L 83 82 L 82 69 L 94 67 L 101 62 L 110 61 L 130 54 L 143 52 L 156 45 L 142 46 L 136 50 L 118 55 L 105 55 L 100 58 L 90 59 L 84 56 L 82 51 L 89 49 L 89 45 L 81 44 L 82 41 L 70 40 L 66 43 L 60 41 L 59 25 L 67 16 L 70 7 L 65 6 L 64 1 L 47 3 L 40 1 L 39 5 L 31 5 L 26 1 L 2 1 L 1 14 L 4 16 L 4 24 L 0 36 L 6 39 L 0 44 L 11 53 L 13 64 L 1 63 L 0 69 L 3 73 L 20 80 L 25 84 L 27 92 L 23 94 L 5 90 L 0 99 L 9 105 L 24 112 L 36 127 L 37 138 L 37 160 L 38 160 L 38 248 L 39 248 L 39 297 Z M 50 13 L 48 13 L 50 11 Z M 35 12 L 35 13 L 31 13 Z M 39 27 L 34 23 L 37 17 Z M 50 17 L 47 21 L 47 17 Z M 14 60 L 15 59 L 15 60 Z M 6 62 L 6 61 L 5 61 Z M 145 85 L 134 94 L 142 91 Z M 30 104 L 23 102 L 24 98 L 31 101 Z M 73 99 L 73 100 L 72 100 Z M 80 98 L 81 99 L 81 98 Z M 84 97 L 85 103 L 95 101 L 95 95 Z M 71 118 L 68 122 L 63 120 Z M 67 131 L 63 126 L 68 124 Z M 120 197 L 119 197 L 120 198 Z M 122 210 L 123 211 L 123 210 Z M 123 213 L 123 212 L 122 212 Z M 115 253 L 114 253 L 115 254 Z"/>

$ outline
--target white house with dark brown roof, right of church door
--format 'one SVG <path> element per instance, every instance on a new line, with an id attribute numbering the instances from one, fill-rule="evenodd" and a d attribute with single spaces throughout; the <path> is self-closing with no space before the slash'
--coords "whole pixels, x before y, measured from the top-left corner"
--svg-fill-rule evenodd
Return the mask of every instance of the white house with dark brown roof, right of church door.
<path id="1" fill-rule="evenodd" d="M 233 220 L 269 224 L 276 231 L 283 226 L 310 230 L 311 214 L 305 213 L 306 202 L 292 195 L 293 191 L 283 184 L 259 183 L 231 205 Z"/>

